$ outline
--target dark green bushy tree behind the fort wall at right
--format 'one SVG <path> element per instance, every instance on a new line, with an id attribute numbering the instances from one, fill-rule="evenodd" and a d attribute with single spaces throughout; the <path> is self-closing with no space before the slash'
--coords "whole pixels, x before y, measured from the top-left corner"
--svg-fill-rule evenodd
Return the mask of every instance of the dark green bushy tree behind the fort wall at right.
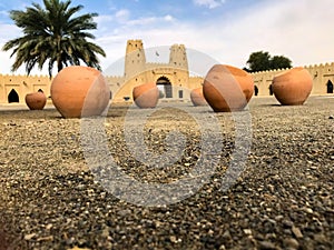
<path id="1" fill-rule="evenodd" d="M 272 57 L 268 52 L 264 51 L 250 53 L 246 63 L 248 68 L 244 69 L 248 72 L 292 68 L 292 61 L 288 58 L 283 56 Z"/>

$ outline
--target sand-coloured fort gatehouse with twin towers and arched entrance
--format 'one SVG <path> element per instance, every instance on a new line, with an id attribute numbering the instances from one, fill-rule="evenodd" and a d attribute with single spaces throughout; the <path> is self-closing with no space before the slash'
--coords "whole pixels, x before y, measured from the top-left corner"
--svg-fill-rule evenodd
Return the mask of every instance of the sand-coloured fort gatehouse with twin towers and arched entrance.
<path id="1" fill-rule="evenodd" d="M 112 92 L 112 100 L 124 101 L 132 99 L 136 86 L 154 82 L 160 87 L 166 98 L 190 99 L 191 89 L 200 87 L 202 78 L 190 78 L 186 48 L 184 44 L 170 47 L 169 61 L 166 63 L 147 62 L 141 40 L 128 40 L 125 58 L 125 76 L 107 77 Z"/>

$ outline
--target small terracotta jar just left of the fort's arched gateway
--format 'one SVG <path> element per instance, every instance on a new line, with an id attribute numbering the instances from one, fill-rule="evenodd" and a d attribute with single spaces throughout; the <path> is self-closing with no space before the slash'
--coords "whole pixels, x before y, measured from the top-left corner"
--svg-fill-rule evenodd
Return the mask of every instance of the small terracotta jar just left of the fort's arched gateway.
<path id="1" fill-rule="evenodd" d="M 134 88 L 132 97 L 141 109 L 155 108 L 159 100 L 159 90 L 155 83 L 145 83 Z"/>

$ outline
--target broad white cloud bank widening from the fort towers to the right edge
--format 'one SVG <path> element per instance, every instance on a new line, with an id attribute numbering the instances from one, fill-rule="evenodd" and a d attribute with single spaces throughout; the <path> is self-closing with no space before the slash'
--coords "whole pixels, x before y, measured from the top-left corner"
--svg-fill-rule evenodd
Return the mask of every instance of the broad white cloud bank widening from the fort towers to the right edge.
<path id="1" fill-rule="evenodd" d="M 184 43 L 222 63 L 240 68 L 252 52 L 259 50 L 285 56 L 294 66 L 330 62 L 334 54 L 334 32 L 328 32 L 334 23 L 331 6 L 331 0 L 316 7 L 307 0 L 267 1 L 202 22 L 175 21 L 165 27 L 129 29 L 118 33 L 119 41 L 124 41 L 117 44 L 122 46 L 118 57 L 124 56 L 126 40 L 143 39 L 145 48 Z M 110 54 L 104 62 L 111 58 Z"/>

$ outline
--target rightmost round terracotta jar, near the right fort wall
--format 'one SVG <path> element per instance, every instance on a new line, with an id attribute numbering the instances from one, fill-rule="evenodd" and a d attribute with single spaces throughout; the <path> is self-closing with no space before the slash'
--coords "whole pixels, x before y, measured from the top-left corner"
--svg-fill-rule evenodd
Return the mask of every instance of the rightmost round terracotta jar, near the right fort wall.
<path id="1" fill-rule="evenodd" d="M 313 80 L 310 72 L 303 67 L 289 69 L 276 74 L 272 89 L 275 98 L 283 106 L 303 104 L 312 91 Z"/>

